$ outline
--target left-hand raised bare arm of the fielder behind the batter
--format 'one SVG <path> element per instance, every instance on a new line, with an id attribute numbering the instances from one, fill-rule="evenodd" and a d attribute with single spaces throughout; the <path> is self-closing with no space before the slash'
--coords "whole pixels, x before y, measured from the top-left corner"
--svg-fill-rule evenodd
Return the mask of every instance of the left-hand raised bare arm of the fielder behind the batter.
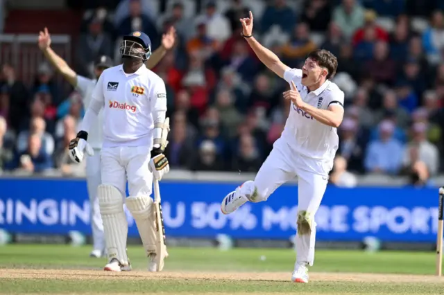
<path id="1" fill-rule="evenodd" d="M 65 62 L 62 57 L 52 50 L 51 36 L 48 33 L 48 28 L 44 28 L 43 32 L 40 31 L 38 44 L 46 59 L 56 68 L 58 73 L 62 74 L 63 78 L 65 78 L 69 84 L 76 87 L 77 74 L 68 66 L 67 62 Z"/>

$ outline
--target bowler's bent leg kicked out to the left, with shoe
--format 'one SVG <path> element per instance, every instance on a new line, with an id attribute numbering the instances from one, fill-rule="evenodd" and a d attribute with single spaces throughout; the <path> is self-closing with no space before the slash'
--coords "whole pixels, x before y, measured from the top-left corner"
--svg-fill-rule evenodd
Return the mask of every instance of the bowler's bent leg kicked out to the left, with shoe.
<path id="1" fill-rule="evenodd" d="M 276 188 L 295 178 L 296 174 L 289 165 L 287 152 L 287 143 L 278 140 L 257 172 L 255 180 L 246 181 L 225 196 L 221 204 L 222 213 L 230 214 L 248 201 L 266 201 Z"/>

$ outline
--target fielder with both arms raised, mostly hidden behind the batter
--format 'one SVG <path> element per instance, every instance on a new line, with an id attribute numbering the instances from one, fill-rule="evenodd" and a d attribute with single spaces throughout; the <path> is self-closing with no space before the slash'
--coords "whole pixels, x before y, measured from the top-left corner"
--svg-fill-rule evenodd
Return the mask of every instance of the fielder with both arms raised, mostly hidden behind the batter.
<path id="1" fill-rule="evenodd" d="M 151 58 L 146 62 L 148 69 L 152 69 L 165 55 L 175 42 L 176 31 L 173 27 L 169 29 L 167 34 L 162 37 L 162 46 L 151 55 Z M 81 75 L 77 75 L 73 69 L 51 48 L 51 35 L 49 35 L 48 28 L 44 28 L 40 31 L 38 38 L 38 46 L 42 50 L 47 60 L 56 68 L 58 73 L 63 75 L 65 80 L 69 82 L 80 93 L 83 98 L 84 107 L 88 107 L 91 102 L 91 94 L 96 86 L 96 82 L 99 79 L 103 70 L 114 66 L 112 59 L 108 56 L 100 56 L 96 62 L 94 62 L 94 75 L 95 79 L 85 78 Z M 91 127 L 89 132 L 89 145 L 94 150 L 94 155 L 87 157 L 86 162 L 86 181 L 87 191 L 89 195 L 90 204 L 90 220 L 92 226 L 92 242 L 93 250 L 89 254 L 91 257 L 100 258 L 105 255 L 105 239 L 103 237 L 103 224 L 99 210 L 99 199 L 97 199 L 97 188 L 101 184 L 101 159 L 100 150 L 102 147 L 102 126 L 103 126 L 103 114 L 99 112 L 98 123 Z"/>

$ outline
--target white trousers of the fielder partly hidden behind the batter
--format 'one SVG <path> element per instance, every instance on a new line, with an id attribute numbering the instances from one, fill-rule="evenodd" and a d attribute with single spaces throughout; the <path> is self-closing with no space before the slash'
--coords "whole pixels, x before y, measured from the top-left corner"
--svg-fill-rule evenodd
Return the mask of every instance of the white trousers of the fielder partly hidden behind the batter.
<path id="1" fill-rule="evenodd" d="M 90 220 L 92 229 L 92 246 L 94 250 L 105 250 L 103 223 L 100 215 L 97 188 L 101 184 L 101 150 L 94 149 L 94 156 L 86 158 L 86 184 L 89 196 Z"/>

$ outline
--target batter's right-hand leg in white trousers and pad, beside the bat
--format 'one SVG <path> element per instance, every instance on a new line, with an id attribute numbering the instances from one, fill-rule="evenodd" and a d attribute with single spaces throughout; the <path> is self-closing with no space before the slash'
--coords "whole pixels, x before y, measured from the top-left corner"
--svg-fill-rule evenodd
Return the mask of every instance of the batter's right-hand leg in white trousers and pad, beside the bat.
<path id="1" fill-rule="evenodd" d="M 164 243 L 157 238 L 156 215 L 151 196 L 153 174 L 148 169 L 150 152 L 148 147 L 132 147 L 126 173 L 130 197 L 126 199 L 126 208 L 133 215 L 149 258 L 148 271 L 162 271 L 164 258 L 168 253 Z M 158 229 L 162 231 L 162 229 Z M 162 253 L 157 255 L 157 253 Z M 162 256 L 163 255 L 163 256 Z"/>

